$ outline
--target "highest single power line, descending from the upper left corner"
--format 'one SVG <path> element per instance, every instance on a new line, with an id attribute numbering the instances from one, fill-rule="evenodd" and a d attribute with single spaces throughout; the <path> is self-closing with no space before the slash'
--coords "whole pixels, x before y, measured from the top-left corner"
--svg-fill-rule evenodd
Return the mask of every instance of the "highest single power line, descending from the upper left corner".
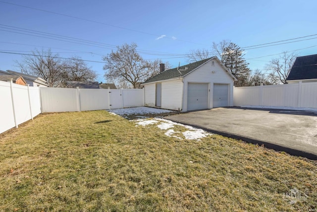
<path id="1" fill-rule="evenodd" d="M 129 30 L 129 31 L 138 32 L 138 33 L 142 33 L 142 34 L 147 34 L 147 35 L 152 35 L 152 36 L 156 36 L 156 37 L 160 37 L 161 36 L 161 35 L 156 35 L 156 34 L 153 34 L 153 33 L 143 32 L 143 31 L 129 29 L 129 28 L 116 26 L 116 25 L 112 25 L 112 24 L 107 24 L 107 23 L 103 23 L 103 22 L 99 22 L 99 21 L 94 21 L 94 20 L 90 20 L 90 19 L 86 19 L 86 18 L 81 18 L 81 17 L 77 17 L 77 16 L 67 15 L 67 14 L 63 14 L 63 13 L 59 13 L 59 12 L 53 12 L 53 11 L 49 11 L 49 10 L 45 10 L 45 9 L 34 8 L 34 7 L 25 6 L 25 5 L 21 5 L 21 4 L 15 4 L 15 3 L 10 3 L 10 2 L 6 2 L 6 1 L 0 1 L 0 2 L 1 3 L 15 5 L 15 6 L 21 6 L 21 7 L 25 7 L 25 8 L 29 8 L 29 9 L 39 10 L 39 11 L 43 11 L 43 12 L 49 12 L 49 13 L 52 13 L 52 14 L 62 15 L 62 16 L 70 17 L 70 18 L 76 18 L 76 19 L 80 19 L 80 20 L 84 20 L 84 21 L 93 22 L 93 23 L 103 24 L 103 25 L 106 25 L 106 26 L 111 26 L 111 27 L 115 27 L 115 28 L 119 28 L 119 29 Z M 177 39 L 175 37 L 164 36 L 164 38 L 169 38 L 169 39 L 177 40 L 177 41 L 181 41 L 181 42 L 205 45 L 205 44 L 195 43 L 195 42 L 191 42 L 191 41 L 180 40 L 180 39 Z"/>

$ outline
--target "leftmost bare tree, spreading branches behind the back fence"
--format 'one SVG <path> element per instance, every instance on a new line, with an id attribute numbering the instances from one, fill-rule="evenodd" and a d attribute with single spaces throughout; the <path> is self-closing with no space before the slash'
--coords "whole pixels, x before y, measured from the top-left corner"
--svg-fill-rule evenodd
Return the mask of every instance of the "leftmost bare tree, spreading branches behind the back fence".
<path id="1" fill-rule="evenodd" d="M 22 62 L 16 62 L 21 71 L 39 76 L 47 81 L 50 87 L 61 86 L 62 61 L 59 55 L 53 55 L 51 49 L 45 52 L 35 50 L 32 56 L 23 56 Z"/>

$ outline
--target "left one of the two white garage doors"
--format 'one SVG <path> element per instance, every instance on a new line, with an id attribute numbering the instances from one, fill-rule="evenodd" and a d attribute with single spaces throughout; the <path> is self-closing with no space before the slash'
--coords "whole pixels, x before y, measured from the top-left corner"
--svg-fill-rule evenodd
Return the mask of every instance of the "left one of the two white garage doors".
<path id="1" fill-rule="evenodd" d="M 208 83 L 188 83 L 187 110 L 208 108 Z"/>

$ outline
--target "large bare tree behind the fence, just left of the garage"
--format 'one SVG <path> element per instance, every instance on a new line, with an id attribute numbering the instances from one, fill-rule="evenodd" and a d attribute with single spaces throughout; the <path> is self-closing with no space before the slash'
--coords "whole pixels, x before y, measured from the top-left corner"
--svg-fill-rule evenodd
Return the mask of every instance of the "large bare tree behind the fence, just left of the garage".
<path id="1" fill-rule="evenodd" d="M 107 81 L 116 84 L 129 82 L 133 88 L 139 88 L 141 83 L 159 73 L 160 60 L 148 62 L 137 53 L 135 43 L 118 46 L 115 52 L 103 57 L 106 62 L 104 66 Z"/>

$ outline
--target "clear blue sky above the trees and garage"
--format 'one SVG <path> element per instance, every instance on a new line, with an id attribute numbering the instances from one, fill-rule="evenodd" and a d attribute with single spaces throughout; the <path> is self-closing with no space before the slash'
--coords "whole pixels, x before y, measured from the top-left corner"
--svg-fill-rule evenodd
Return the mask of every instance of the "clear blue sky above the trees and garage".
<path id="1" fill-rule="evenodd" d="M 317 34 L 316 8 L 316 0 L 0 0 L 0 51 L 30 54 L 35 48 L 50 47 L 63 58 L 77 55 L 103 62 L 102 55 L 115 46 L 134 42 L 144 59 L 161 59 L 176 67 L 179 62 L 187 64 L 186 54 L 191 49 L 211 50 L 212 42 L 224 39 L 243 48 Z M 30 33 L 12 27 L 103 46 L 25 35 Z M 317 35 L 290 41 L 298 42 L 245 48 L 249 68 L 264 70 L 265 64 L 283 51 L 299 49 L 299 56 L 317 54 Z M 21 60 L 21 55 L 0 53 L 0 70 L 18 71 L 14 61 Z M 98 81 L 106 82 L 103 63 L 87 64 L 99 74 Z"/>

